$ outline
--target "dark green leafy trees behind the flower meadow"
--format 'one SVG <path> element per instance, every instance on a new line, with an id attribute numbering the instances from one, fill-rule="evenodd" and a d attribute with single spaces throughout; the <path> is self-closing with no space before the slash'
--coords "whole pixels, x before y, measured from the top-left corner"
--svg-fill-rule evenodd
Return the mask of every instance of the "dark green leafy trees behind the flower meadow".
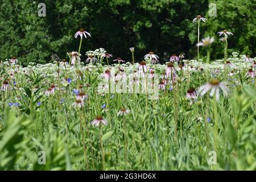
<path id="1" fill-rule="evenodd" d="M 209 3 L 216 3 L 217 16 L 209 17 Z M 114 57 L 129 61 L 129 47 L 135 47 L 142 59 L 149 51 L 166 61 L 173 53 L 196 56 L 197 14 L 208 18 L 201 23 L 201 38 L 214 36 L 212 60 L 223 56 L 217 32 L 234 33 L 229 53 L 251 56 L 255 52 L 256 1 L 244 0 L 46 0 L 46 17 L 38 16 L 40 1 L 2 0 L 0 10 L 0 59 L 16 56 L 23 65 L 31 61 L 48 63 L 52 53 L 67 59 L 66 52 L 77 51 L 79 40 L 73 37 L 83 27 L 92 38 L 82 43 L 85 51 L 103 47 Z M 201 55 L 204 55 L 204 49 Z"/>

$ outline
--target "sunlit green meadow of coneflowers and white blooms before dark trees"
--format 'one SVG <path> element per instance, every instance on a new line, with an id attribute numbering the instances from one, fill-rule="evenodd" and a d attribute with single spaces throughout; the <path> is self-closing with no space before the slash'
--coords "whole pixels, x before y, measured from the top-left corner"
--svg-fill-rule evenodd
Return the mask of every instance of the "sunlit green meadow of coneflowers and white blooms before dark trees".
<path id="1" fill-rule="evenodd" d="M 1 60 L 0 169 L 256 170 L 256 59 L 228 52 L 236 32 L 201 39 L 207 20 L 192 60 L 82 52 L 83 28 L 52 63 Z"/>

